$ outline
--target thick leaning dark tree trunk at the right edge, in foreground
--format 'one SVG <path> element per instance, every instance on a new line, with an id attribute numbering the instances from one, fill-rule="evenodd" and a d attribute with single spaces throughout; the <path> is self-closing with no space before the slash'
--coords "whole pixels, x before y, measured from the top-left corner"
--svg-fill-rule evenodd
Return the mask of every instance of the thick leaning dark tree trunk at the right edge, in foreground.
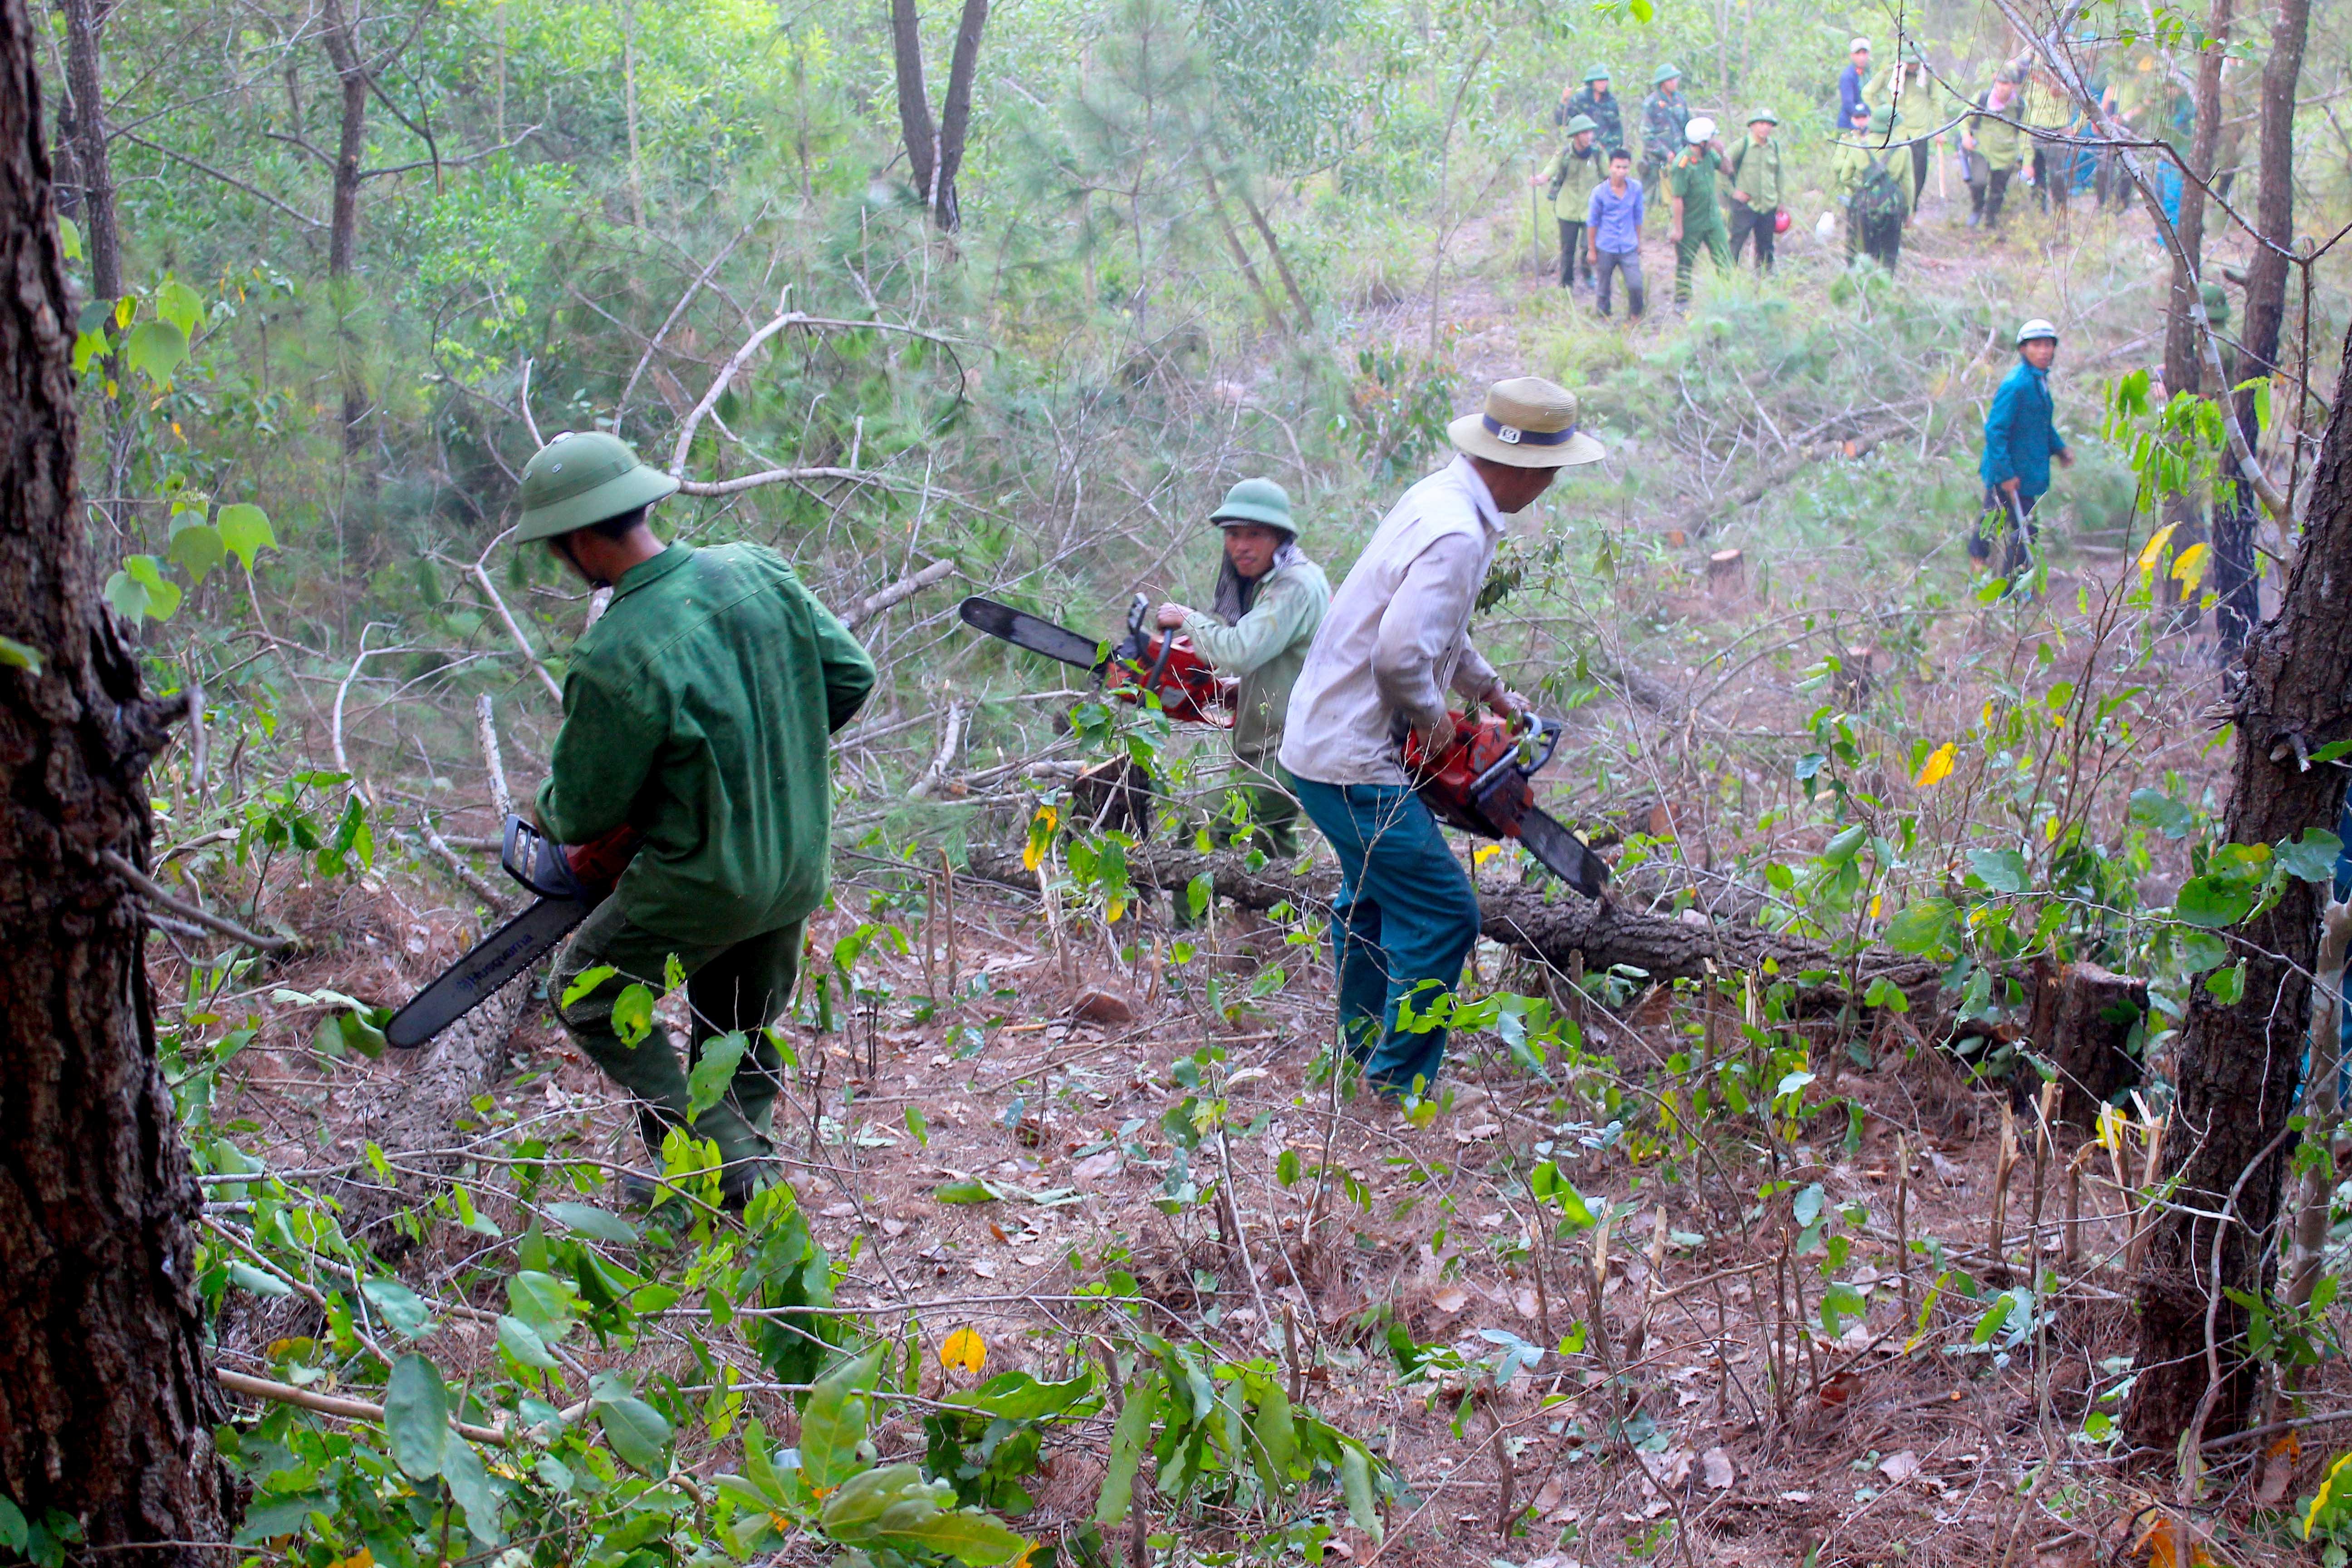
<path id="1" fill-rule="evenodd" d="M 2277 844 L 2307 827 L 2336 825 L 2343 773 L 2303 764 L 2303 755 L 2352 738 L 2347 668 L 2352 357 L 2336 381 L 2286 595 L 2277 618 L 2246 646 L 2225 816 L 2232 844 Z M 2246 1312 L 2220 1291 L 2258 1295 L 2274 1272 L 2279 1182 L 2291 1152 L 2286 1117 L 2310 1020 L 2321 898 L 2324 889 L 2288 882 L 2267 914 L 2232 931 L 2246 964 L 2246 990 L 2234 1006 L 2216 1001 L 2204 985 L 2190 992 L 2173 1124 L 2164 1135 L 2164 1175 L 2178 1180 L 2178 1208 L 2157 1222 L 2138 1281 L 2140 1373 L 2126 1432 L 2143 1448 L 2171 1450 L 2199 1406 L 2209 1434 L 2241 1425 L 2251 1408 L 2256 1363 L 2246 1354 Z M 2213 1220 L 2187 1211 L 2225 1206 L 2234 1222 L 2216 1246 Z"/>

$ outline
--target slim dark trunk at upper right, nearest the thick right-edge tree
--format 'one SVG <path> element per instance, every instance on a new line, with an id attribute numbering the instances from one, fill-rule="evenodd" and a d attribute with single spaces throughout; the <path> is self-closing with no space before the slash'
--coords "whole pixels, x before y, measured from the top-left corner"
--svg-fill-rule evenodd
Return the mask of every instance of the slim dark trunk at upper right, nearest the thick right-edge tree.
<path id="1" fill-rule="evenodd" d="M 2303 78 L 2303 45 L 2310 35 L 2310 0 L 2279 0 L 2270 24 L 2270 59 L 2263 61 L 2260 186 L 2253 195 L 2256 230 L 2279 247 L 2296 242 L 2296 82 Z M 2288 261 L 2267 247 L 2253 252 L 2246 266 L 2246 353 L 2237 378 L 2258 381 L 2277 374 L 2279 324 L 2286 320 Z M 2256 425 L 2256 388 L 2237 393 L 2237 423 L 2249 442 L 2260 442 Z M 2227 463 L 2237 473 L 2237 463 Z M 2220 639 L 2227 654 L 2246 646 L 2263 618 L 2260 574 L 2253 562 L 2256 505 L 2249 484 L 2239 482 L 2225 515 L 2213 527 L 2213 592 L 2218 595 Z"/>

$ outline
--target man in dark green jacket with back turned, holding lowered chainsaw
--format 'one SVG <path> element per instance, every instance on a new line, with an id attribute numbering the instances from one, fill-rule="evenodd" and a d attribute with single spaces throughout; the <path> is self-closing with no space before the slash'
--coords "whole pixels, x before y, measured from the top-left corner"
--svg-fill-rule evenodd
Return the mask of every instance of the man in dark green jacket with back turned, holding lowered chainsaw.
<path id="1" fill-rule="evenodd" d="M 644 835 L 612 898 L 548 980 L 557 1016 L 637 1100 L 654 1166 L 687 1128 L 720 1150 L 720 1194 L 741 1206 L 776 1180 L 781 1060 L 764 1027 L 800 969 L 802 922 L 826 898 L 833 832 L 828 736 L 875 684 L 866 649 L 774 550 L 663 545 L 647 508 L 677 480 L 621 440 L 567 433 L 522 470 L 517 541 L 548 550 L 612 607 L 564 672 L 564 724 L 539 785 L 539 825 L 586 844 Z M 644 1016 L 616 1020 L 630 985 L 684 980 L 687 1060 Z M 741 1034 L 717 1105 L 689 1114 L 687 1067 Z M 729 1041 L 727 1048 L 734 1048 Z"/>

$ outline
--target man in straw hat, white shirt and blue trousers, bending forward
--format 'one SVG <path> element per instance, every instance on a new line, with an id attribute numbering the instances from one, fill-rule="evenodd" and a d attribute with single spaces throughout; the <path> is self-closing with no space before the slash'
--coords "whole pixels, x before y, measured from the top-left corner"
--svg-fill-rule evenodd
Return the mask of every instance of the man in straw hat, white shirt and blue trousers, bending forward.
<path id="1" fill-rule="evenodd" d="M 1399 1004 L 1428 1013 L 1449 994 L 1479 929 L 1470 877 L 1414 795 L 1399 736 L 1411 729 L 1430 755 L 1451 745 L 1446 689 L 1526 712 L 1470 646 L 1470 611 L 1505 520 L 1562 468 L 1606 456 L 1576 428 L 1576 397 L 1534 376 L 1496 383 L 1446 435 L 1461 456 L 1404 491 L 1331 597 L 1282 741 L 1298 804 L 1338 853 L 1338 1032 L 1383 1095 L 1437 1079 L 1446 1032 L 1399 1032 Z"/>

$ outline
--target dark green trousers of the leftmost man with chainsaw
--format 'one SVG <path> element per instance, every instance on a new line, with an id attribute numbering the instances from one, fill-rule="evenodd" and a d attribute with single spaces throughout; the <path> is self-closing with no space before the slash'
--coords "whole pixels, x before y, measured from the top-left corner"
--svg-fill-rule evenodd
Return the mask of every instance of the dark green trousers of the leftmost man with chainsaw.
<path id="1" fill-rule="evenodd" d="M 680 943 L 635 924 L 619 898 L 607 898 L 564 947 L 548 978 L 557 999 L 590 969 L 612 964 L 616 973 L 600 980 L 557 1016 L 581 1051 L 614 1084 L 637 1100 L 637 1131 L 644 1147 L 661 1159 L 661 1138 L 673 1126 L 687 1126 L 696 1138 L 720 1145 L 727 1164 L 764 1159 L 771 1150 L 776 1093 L 783 1086 L 783 1060 L 764 1027 L 783 1013 L 800 976 L 802 924 L 762 931 L 739 943 Z M 687 1009 L 691 1016 L 687 1060 L 677 1060 L 670 1032 L 654 1023 L 652 1034 L 635 1046 L 614 1030 L 612 1009 L 630 983 L 661 992 L 670 954 L 687 973 Z M 720 1034 L 743 1032 L 750 1048 L 736 1065 L 727 1095 L 701 1117 L 687 1114 L 687 1072 L 701 1060 L 703 1046 Z"/>

